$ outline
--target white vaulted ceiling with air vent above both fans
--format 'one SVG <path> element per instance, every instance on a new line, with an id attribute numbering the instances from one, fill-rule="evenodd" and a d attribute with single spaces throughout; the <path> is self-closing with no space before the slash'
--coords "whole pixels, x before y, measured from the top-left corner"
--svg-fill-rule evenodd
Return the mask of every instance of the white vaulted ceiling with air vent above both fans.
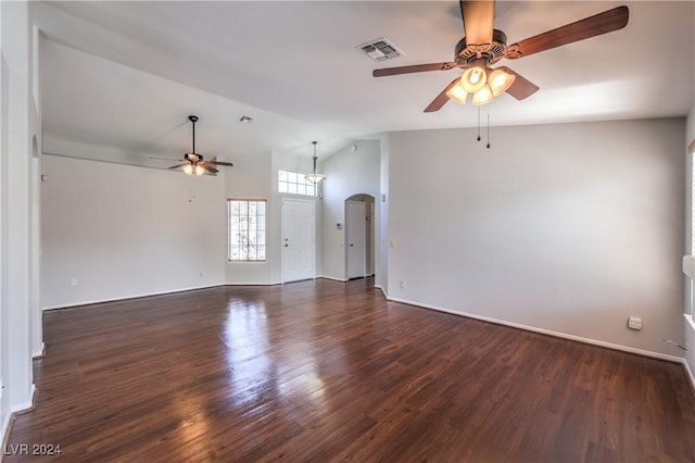
<path id="1" fill-rule="evenodd" d="M 483 107 L 491 125 L 684 116 L 693 107 L 695 2 L 497 2 L 508 43 L 609 10 L 628 26 L 508 65 L 541 87 Z M 41 2 L 43 150 L 151 164 L 190 148 L 233 161 L 319 158 L 391 130 L 471 127 L 475 107 L 424 113 L 457 71 L 374 78 L 453 59 L 456 1 Z M 356 46 L 386 36 L 404 53 L 377 63 Z M 252 124 L 238 122 L 255 117 Z M 96 153 L 87 145 L 110 147 Z M 79 154 L 75 154 L 79 153 Z M 165 162 L 166 163 L 166 162 Z M 161 164 L 160 164 L 161 165 Z"/>

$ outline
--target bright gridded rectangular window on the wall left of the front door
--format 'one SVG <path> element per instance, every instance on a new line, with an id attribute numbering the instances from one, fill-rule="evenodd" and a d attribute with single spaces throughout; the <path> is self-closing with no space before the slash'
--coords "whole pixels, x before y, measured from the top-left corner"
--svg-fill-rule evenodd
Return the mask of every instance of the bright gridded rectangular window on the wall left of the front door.
<path id="1" fill-rule="evenodd" d="M 230 261 L 265 261 L 265 199 L 229 199 Z"/>

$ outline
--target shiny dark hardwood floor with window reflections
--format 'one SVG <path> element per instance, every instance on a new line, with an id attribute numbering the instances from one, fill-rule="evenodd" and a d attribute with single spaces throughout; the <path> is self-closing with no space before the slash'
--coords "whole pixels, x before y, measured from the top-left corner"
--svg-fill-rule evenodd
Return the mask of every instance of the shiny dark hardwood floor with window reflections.
<path id="1" fill-rule="evenodd" d="M 21 445 L 68 462 L 695 461 L 682 365 L 388 302 L 371 285 L 47 312 L 37 406 L 3 461 L 37 458 L 8 454 Z"/>

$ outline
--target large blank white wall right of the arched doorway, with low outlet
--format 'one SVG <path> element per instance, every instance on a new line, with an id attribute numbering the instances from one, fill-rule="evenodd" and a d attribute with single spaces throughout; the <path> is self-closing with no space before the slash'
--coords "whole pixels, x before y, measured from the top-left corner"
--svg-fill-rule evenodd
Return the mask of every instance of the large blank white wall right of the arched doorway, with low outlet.
<path id="1" fill-rule="evenodd" d="M 681 356 L 684 121 L 492 137 L 391 134 L 389 296 Z"/>

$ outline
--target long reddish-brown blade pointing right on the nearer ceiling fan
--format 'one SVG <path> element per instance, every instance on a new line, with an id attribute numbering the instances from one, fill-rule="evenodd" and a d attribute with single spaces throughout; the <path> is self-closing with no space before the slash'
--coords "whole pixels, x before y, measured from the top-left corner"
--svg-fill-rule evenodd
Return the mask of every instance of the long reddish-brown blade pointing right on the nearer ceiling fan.
<path id="1" fill-rule="evenodd" d="M 514 60 L 618 30 L 628 24 L 629 17 L 630 11 L 628 7 L 614 8 L 612 10 L 604 11 L 603 13 L 510 45 L 505 50 L 504 55 L 505 58 Z"/>

